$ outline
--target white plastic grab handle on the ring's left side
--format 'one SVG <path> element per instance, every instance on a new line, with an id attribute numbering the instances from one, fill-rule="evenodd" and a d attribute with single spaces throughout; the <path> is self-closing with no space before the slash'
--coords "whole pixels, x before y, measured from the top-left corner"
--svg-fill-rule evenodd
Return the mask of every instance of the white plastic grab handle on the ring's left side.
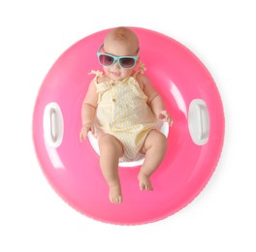
<path id="1" fill-rule="evenodd" d="M 44 110 L 44 138 L 48 146 L 56 148 L 64 134 L 64 121 L 60 107 L 56 103 L 49 103 Z"/>

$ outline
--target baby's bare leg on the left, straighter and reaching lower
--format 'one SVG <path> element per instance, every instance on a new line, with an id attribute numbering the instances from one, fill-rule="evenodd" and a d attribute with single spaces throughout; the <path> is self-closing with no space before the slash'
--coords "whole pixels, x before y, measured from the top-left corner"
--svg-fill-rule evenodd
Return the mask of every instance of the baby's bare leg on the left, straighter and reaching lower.
<path id="1" fill-rule="evenodd" d="M 113 204 L 122 202 L 122 193 L 118 175 L 118 161 L 123 154 L 123 147 L 110 134 L 103 135 L 99 140 L 100 166 L 102 173 L 110 187 L 110 201 Z"/>

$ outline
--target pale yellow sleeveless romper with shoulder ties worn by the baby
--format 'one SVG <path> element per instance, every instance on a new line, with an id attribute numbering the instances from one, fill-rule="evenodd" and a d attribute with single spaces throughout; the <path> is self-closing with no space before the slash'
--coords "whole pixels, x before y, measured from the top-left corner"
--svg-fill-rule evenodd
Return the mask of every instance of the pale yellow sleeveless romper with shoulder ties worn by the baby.
<path id="1" fill-rule="evenodd" d="M 141 89 L 136 74 L 123 80 L 110 80 L 98 83 L 100 71 L 94 83 L 98 93 L 98 106 L 94 121 L 95 137 L 104 133 L 117 138 L 124 148 L 120 162 L 136 161 L 143 158 L 140 153 L 144 140 L 152 129 L 159 130 L 158 120 L 147 104 L 147 97 Z"/>

